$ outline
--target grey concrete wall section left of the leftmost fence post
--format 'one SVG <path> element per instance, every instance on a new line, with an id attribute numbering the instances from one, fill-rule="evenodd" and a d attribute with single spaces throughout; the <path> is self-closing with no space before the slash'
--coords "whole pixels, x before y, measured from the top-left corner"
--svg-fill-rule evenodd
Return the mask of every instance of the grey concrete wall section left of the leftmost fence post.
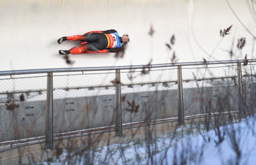
<path id="1" fill-rule="evenodd" d="M 45 136 L 46 101 L 0 104 L 0 142 Z"/>

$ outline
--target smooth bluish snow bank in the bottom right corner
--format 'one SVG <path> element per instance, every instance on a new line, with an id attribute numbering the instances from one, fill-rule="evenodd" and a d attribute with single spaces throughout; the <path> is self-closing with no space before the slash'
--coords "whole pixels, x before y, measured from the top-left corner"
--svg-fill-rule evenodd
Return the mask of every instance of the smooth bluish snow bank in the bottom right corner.
<path id="1" fill-rule="evenodd" d="M 218 135 L 214 130 L 197 136 L 189 140 L 178 143 L 176 146 L 162 151 L 154 156 L 154 164 L 237 164 L 237 154 L 234 150 L 234 144 L 237 144 L 241 153 L 238 164 L 255 164 L 256 162 L 256 115 L 248 117 L 246 120 L 221 127 L 223 141 L 219 142 Z M 223 135 L 224 130 L 228 130 Z M 234 131 L 234 132 L 233 132 Z M 210 138 L 209 142 L 204 140 Z M 166 155 L 166 156 L 165 156 Z M 175 160 L 176 157 L 176 160 Z M 142 164 L 147 164 L 144 161 Z M 149 163 L 151 164 L 151 163 Z"/>

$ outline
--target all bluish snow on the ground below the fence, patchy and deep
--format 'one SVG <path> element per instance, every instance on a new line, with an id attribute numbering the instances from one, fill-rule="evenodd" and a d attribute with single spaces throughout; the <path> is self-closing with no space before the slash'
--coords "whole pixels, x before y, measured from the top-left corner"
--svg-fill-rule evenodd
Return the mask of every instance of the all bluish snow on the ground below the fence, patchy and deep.
<path id="1" fill-rule="evenodd" d="M 223 141 L 214 130 L 206 132 L 205 129 L 197 131 L 190 125 L 180 127 L 176 131 L 154 136 L 151 140 L 151 153 L 153 164 L 255 164 L 256 162 L 256 115 L 247 117 L 240 123 L 220 127 Z M 200 125 L 203 128 L 203 125 Z M 226 132 L 225 132 L 226 130 Z M 185 134 L 184 134 L 185 133 Z M 225 135 L 223 135 L 225 133 Z M 201 135 L 200 135 L 201 134 Z M 208 141 L 209 138 L 209 141 Z M 206 139 L 206 140 L 204 140 Z M 237 144 L 237 145 L 236 145 Z M 240 159 L 237 159 L 235 149 L 240 151 Z M 151 164 L 148 159 L 148 143 L 146 140 L 137 139 L 129 144 L 114 144 L 91 150 L 83 155 L 68 158 L 65 150 L 59 159 L 56 157 L 53 162 L 42 162 L 43 164 Z M 237 152 L 239 153 L 239 152 Z M 94 156 L 93 156 L 94 155 Z M 176 158 L 176 159 L 175 159 Z M 238 163 L 236 161 L 238 160 Z"/>

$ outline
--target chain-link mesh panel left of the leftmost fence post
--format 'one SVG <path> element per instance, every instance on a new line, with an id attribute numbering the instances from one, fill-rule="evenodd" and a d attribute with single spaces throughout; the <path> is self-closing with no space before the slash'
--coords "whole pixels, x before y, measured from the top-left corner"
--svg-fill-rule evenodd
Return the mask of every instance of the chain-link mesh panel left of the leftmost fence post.
<path id="1" fill-rule="evenodd" d="M 45 136 L 47 76 L 0 79 L 0 142 Z"/>

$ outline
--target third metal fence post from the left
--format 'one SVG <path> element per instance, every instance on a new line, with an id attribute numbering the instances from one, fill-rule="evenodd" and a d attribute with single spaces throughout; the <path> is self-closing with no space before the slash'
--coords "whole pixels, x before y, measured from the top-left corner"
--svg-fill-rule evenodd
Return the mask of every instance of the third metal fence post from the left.
<path id="1" fill-rule="evenodd" d="M 178 119 L 178 125 L 185 124 L 181 65 L 178 66 Z"/>

